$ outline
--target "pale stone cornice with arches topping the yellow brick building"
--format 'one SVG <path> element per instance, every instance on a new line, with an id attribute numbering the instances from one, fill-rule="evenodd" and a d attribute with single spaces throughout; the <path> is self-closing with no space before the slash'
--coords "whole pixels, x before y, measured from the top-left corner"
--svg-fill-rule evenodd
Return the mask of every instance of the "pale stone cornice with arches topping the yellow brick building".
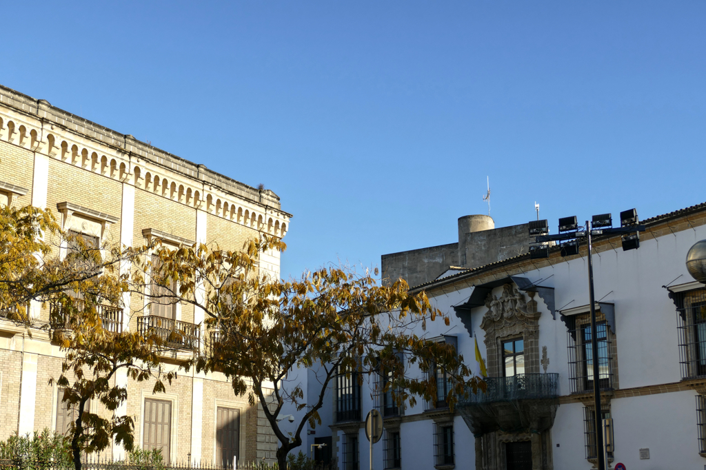
<path id="1" fill-rule="evenodd" d="M 269 189 L 227 176 L 0 85 L 0 140 L 282 238 L 291 214 Z"/>

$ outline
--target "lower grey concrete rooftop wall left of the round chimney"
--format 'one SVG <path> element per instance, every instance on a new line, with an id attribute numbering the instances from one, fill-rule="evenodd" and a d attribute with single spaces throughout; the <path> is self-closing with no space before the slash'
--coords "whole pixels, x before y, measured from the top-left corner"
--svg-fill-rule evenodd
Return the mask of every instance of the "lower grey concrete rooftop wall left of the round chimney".
<path id="1" fill-rule="evenodd" d="M 410 287 L 436 279 L 458 263 L 458 243 L 382 255 L 383 284 L 405 279 Z"/>

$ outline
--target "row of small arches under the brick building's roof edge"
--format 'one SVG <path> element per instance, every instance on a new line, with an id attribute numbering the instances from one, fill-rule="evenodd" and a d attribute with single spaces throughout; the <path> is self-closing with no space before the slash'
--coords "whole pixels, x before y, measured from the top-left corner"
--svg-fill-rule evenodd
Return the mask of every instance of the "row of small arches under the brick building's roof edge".
<path id="1" fill-rule="evenodd" d="M 66 140 L 61 141 L 57 145 L 53 134 L 47 135 L 46 143 L 42 143 L 38 138 L 36 129 L 28 131 L 24 125 L 17 127 L 13 121 L 5 123 L 1 117 L 0 137 L 5 138 L 10 143 L 18 143 L 20 147 L 37 151 L 44 150 L 40 147 L 45 144 L 46 150 L 44 152 L 49 157 L 56 157 L 64 162 L 70 162 L 84 169 L 90 169 L 90 171 L 109 176 L 112 179 L 134 183 L 138 188 L 144 183 L 145 191 L 162 195 L 165 198 L 176 200 L 191 207 L 202 207 L 206 212 L 213 215 L 224 217 L 259 231 L 266 231 L 274 236 L 282 237 L 287 233 L 287 224 L 285 222 L 280 224 L 279 220 L 274 220 L 272 217 L 268 217 L 265 222 L 266 215 L 263 217 L 262 214 L 230 204 L 220 198 L 216 198 L 214 201 L 213 195 L 210 194 L 207 194 L 205 200 L 203 200 L 203 196 L 198 189 L 185 188 L 181 183 L 177 185 L 176 181 L 169 182 L 166 178 L 161 178 L 150 171 L 147 171 L 143 177 L 142 169 L 137 166 L 133 167 L 133 174 L 130 174 L 126 164 L 124 162 L 118 163 L 114 158 L 109 159 L 105 155 L 99 157 L 96 152 L 90 152 L 89 154 L 87 149 L 80 150 L 78 145 L 69 147 L 69 143 Z"/>

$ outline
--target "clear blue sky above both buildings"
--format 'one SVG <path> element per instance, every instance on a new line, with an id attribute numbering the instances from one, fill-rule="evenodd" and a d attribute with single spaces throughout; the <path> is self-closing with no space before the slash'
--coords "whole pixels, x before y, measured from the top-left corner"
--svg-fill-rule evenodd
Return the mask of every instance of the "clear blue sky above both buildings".
<path id="1" fill-rule="evenodd" d="M 706 200 L 703 1 L 6 2 L 0 83 L 256 186 L 282 275 Z"/>

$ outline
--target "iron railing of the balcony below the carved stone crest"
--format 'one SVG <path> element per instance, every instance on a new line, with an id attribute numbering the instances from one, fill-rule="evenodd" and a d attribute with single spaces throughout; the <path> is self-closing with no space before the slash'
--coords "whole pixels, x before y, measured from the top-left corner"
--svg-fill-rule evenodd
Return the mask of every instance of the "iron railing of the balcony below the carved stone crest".
<path id="1" fill-rule="evenodd" d="M 469 397 L 461 397 L 459 404 L 480 404 L 509 402 L 511 400 L 532 400 L 558 397 L 559 375 L 517 374 L 513 377 L 488 377 L 487 390 L 470 392 Z"/>

